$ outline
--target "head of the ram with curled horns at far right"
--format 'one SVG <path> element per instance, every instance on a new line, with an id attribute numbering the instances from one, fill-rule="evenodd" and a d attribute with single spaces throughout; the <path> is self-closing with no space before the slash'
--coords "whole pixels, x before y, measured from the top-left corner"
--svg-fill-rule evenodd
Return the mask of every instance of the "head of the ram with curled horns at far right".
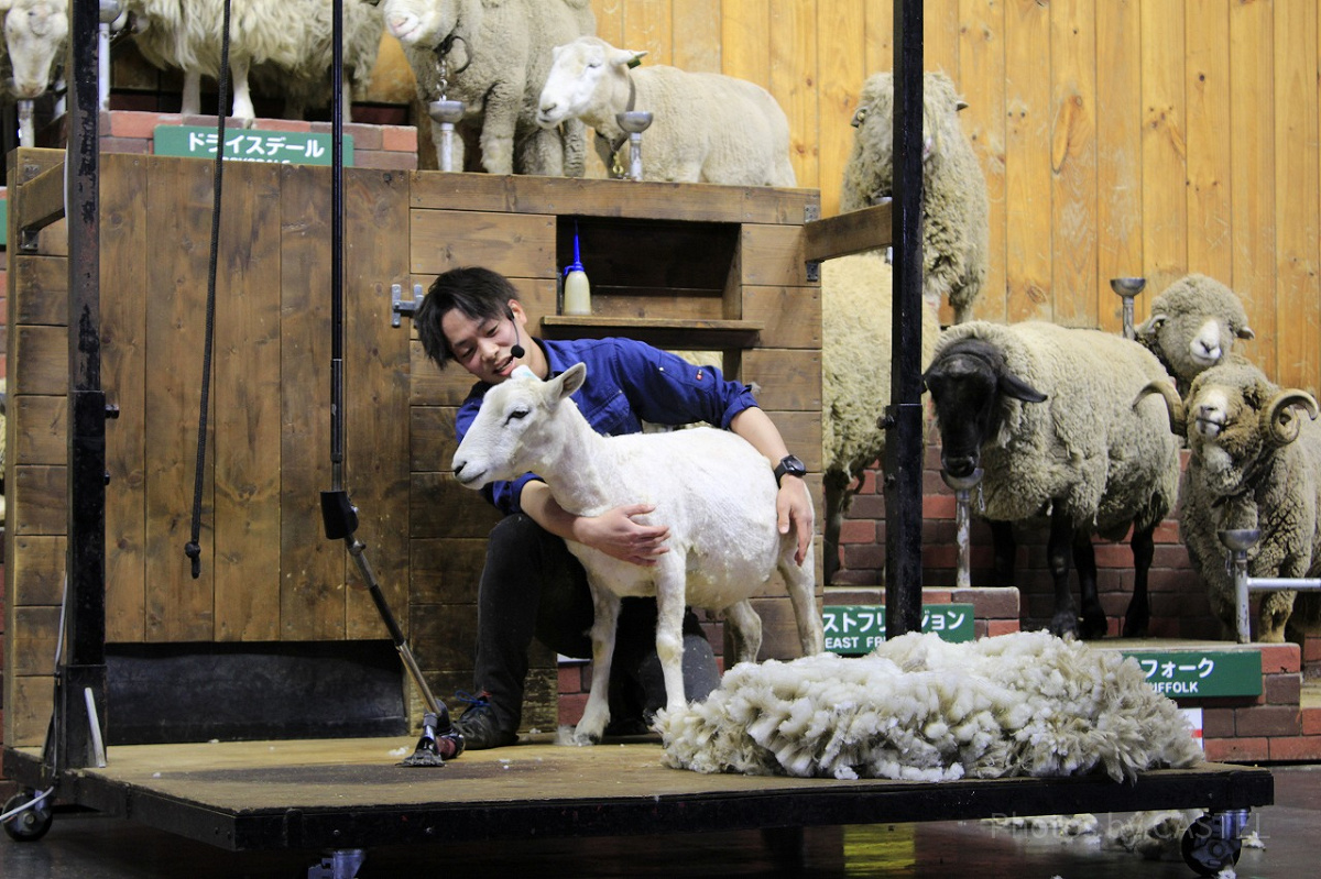
<path id="1" fill-rule="evenodd" d="M 1225 495 L 1242 491 L 1263 458 L 1293 442 L 1303 422 L 1301 407 L 1317 417 L 1310 393 L 1281 389 L 1255 366 L 1225 363 L 1193 381 L 1184 413 L 1188 445 L 1209 487 Z"/>

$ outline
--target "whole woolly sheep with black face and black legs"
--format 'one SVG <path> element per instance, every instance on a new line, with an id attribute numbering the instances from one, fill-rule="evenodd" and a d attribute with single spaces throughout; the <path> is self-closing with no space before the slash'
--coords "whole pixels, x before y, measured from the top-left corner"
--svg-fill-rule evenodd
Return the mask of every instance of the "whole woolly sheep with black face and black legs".
<path id="1" fill-rule="evenodd" d="M 974 503 L 991 521 L 995 569 L 1012 585 L 1011 523 L 1050 515 L 1050 631 L 1099 637 L 1091 535 L 1119 540 L 1132 527 L 1133 597 L 1125 636 L 1145 634 L 1152 533 L 1178 492 L 1178 453 L 1160 407 L 1132 403 L 1168 376 L 1151 351 L 1098 330 L 1044 322 L 972 321 L 946 330 L 923 380 L 941 429 L 947 474 L 984 476 Z M 1069 590 L 1069 556 L 1082 587 L 1082 623 Z"/>

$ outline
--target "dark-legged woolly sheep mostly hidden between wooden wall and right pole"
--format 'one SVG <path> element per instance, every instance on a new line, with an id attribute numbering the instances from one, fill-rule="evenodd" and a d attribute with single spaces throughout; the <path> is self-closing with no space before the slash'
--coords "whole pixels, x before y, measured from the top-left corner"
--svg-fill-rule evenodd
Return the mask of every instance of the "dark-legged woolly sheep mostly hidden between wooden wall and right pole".
<path id="1" fill-rule="evenodd" d="M 877 424 L 890 395 L 894 273 L 880 253 L 822 263 L 822 461 L 826 523 L 824 577 L 839 569 L 839 532 L 863 471 L 885 457 Z M 922 370 L 931 363 L 941 322 L 922 304 Z"/>

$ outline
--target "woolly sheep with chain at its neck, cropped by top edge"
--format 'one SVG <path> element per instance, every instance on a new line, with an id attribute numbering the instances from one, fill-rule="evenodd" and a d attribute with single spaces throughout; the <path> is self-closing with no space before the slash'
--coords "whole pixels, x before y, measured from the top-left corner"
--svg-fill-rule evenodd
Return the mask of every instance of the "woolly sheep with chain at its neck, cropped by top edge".
<path id="1" fill-rule="evenodd" d="M 596 33 L 590 0 L 383 0 L 380 9 L 424 103 L 441 96 L 444 62 L 445 98 L 464 102 L 460 125 L 480 132 L 483 170 L 583 176 L 585 127 L 567 120 L 557 131 L 543 131 L 536 100 L 551 48 Z M 432 132 L 439 161 L 440 123 L 432 123 Z M 464 139 L 453 144 L 453 166 L 462 169 Z"/>

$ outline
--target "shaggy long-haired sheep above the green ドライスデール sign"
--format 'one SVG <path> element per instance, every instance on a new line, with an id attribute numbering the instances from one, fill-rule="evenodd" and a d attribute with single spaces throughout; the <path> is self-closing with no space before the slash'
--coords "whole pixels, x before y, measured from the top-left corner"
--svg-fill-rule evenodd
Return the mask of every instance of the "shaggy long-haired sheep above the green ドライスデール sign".
<path id="1" fill-rule="evenodd" d="M 346 82 L 365 81 L 375 63 L 383 25 L 370 0 L 343 0 L 343 70 Z M 225 0 L 127 0 L 135 41 L 143 57 L 161 69 L 184 71 L 180 112 L 201 111 L 202 77 L 218 77 L 225 26 Z M 328 0 L 235 0 L 230 9 L 230 79 L 232 116 L 244 125 L 256 117 L 250 73 L 264 69 L 263 82 L 288 84 L 292 107 L 329 88 L 334 22 Z M 347 104 L 346 104 L 347 106 Z"/>

